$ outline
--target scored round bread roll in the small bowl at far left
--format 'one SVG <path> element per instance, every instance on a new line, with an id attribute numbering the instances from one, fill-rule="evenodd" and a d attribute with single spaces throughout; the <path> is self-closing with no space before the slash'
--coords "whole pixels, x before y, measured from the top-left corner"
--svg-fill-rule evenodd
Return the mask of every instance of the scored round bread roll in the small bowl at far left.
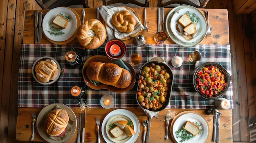
<path id="1" fill-rule="evenodd" d="M 58 66 L 54 60 L 46 59 L 45 61 L 40 61 L 36 64 L 35 72 L 36 78 L 39 81 L 47 83 L 58 77 Z"/>

